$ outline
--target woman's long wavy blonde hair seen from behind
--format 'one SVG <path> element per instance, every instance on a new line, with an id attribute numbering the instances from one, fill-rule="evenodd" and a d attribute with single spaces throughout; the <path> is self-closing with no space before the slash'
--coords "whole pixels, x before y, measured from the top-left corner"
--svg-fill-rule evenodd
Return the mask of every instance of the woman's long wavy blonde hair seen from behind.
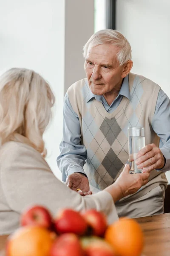
<path id="1" fill-rule="evenodd" d="M 33 70 L 12 68 L 0 76 L 0 146 L 20 134 L 45 157 L 42 134 L 54 102 L 49 84 Z"/>

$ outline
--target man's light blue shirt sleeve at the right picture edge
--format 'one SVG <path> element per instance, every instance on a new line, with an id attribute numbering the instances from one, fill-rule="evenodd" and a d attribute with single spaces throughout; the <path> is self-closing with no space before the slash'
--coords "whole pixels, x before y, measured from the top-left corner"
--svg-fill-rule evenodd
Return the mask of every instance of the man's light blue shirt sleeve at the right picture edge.
<path id="1" fill-rule="evenodd" d="M 159 148 L 166 160 L 166 163 L 159 171 L 170 170 L 170 99 L 160 89 L 156 102 L 155 113 L 152 120 L 152 128 L 160 137 Z"/>

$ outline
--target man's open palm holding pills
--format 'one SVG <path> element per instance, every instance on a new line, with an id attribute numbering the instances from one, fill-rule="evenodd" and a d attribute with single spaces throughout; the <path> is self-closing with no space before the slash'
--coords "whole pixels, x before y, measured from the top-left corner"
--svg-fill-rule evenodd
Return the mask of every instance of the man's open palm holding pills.
<path id="1" fill-rule="evenodd" d="M 80 172 L 74 172 L 73 174 L 68 175 L 65 183 L 70 189 L 76 192 L 78 192 L 77 189 L 81 189 L 79 192 L 80 195 L 92 194 L 92 192 L 89 191 L 90 187 L 88 178 Z"/>

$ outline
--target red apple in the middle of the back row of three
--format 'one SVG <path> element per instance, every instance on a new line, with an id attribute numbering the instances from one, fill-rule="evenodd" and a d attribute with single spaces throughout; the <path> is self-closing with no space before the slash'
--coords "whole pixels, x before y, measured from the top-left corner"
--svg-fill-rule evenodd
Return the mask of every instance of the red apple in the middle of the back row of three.
<path id="1" fill-rule="evenodd" d="M 87 223 L 79 212 L 73 209 L 59 211 L 54 219 L 54 225 L 58 234 L 74 233 L 79 236 L 85 234 Z"/>

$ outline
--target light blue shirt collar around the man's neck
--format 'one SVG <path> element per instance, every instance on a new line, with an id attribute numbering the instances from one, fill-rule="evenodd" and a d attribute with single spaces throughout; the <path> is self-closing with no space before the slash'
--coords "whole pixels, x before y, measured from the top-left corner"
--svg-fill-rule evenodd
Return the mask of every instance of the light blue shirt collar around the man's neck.
<path id="1" fill-rule="evenodd" d="M 127 99 L 130 100 L 130 91 L 129 91 L 129 76 L 127 75 L 124 79 L 123 79 L 123 83 L 122 86 L 120 88 L 119 91 L 119 95 L 123 95 L 125 96 Z M 100 95 L 96 95 L 93 94 L 91 92 L 91 90 L 89 90 L 88 96 L 86 97 L 86 102 L 89 102 L 91 99 L 95 98 L 96 100 L 100 100 L 101 96 Z"/>

